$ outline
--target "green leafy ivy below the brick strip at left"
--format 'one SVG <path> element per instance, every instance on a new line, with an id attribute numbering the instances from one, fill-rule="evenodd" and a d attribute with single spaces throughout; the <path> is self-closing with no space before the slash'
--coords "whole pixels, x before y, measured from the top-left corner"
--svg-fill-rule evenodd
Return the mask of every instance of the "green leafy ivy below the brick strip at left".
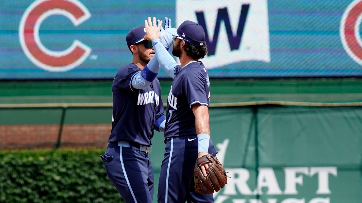
<path id="1" fill-rule="evenodd" d="M 2 150 L 0 202 L 122 202 L 99 156 L 104 150 Z"/>

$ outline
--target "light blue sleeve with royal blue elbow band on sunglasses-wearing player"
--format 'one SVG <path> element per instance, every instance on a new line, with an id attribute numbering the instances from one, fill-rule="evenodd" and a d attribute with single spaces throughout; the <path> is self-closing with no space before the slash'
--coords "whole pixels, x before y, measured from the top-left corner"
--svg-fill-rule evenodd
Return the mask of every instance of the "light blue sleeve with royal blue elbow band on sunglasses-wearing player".
<path id="1" fill-rule="evenodd" d="M 156 78 L 160 70 L 160 64 L 157 60 L 156 55 L 152 57 L 150 62 L 144 66 L 142 71 L 135 73 L 132 78 L 132 87 L 135 89 L 144 89 L 151 85 L 153 79 Z"/>

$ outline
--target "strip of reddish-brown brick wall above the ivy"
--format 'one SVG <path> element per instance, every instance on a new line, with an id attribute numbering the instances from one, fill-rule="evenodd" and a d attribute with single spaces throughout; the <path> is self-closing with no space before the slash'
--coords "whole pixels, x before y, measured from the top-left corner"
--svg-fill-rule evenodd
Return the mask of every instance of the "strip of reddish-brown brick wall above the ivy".
<path id="1" fill-rule="evenodd" d="M 110 124 L 63 126 L 60 147 L 106 147 Z M 54 148 L 59 125 L 0 125 L 1 149 Z"/>

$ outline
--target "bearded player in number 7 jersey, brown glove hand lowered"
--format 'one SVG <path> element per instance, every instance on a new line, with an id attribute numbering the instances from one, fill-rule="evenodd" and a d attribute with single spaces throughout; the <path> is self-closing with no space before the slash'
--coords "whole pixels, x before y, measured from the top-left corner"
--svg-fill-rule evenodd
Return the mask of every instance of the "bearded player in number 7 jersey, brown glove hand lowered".
<path id="1" fill-rule="evenodd" d="M 205 32 L 202 26 L 192 21 L 183 22 L 178 29 L 169 28 L 169 19 L 166 18 L 165 22 L 168 24 L 165 31 L 174 38 L 172 54 L 180 58 L 181 65 L 177 65 L 169 55 L 163 42 L 149 39 L 153 42 L 155 56 L 161 67 L 173 78 L 167 99 L 166 152 L 161 165 L 157 201 L 214 202 L 212 194 L 195 193 L 193 181 L 196 159 L 216 154 L 209 128 L 209 75 L 199 61 L 207 53 Z M 164 39 L 166 44 L 172 44 L 169 37 Z M 201 166 L 204 176 L 209 165 L 205 163 Z"/>

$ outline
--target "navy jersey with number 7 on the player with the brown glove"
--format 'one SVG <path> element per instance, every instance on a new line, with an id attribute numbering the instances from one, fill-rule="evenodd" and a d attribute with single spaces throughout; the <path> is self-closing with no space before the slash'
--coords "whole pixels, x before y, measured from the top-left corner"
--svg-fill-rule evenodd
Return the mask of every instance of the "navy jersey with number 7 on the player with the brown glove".
<path id="1" fill-rule="evenodd" d="M 167 98 L 165 138 L 196 134 L 192 105 L 209 106 L 210 81 L 202 62 L 174 69 L 175 77 Z"/>

